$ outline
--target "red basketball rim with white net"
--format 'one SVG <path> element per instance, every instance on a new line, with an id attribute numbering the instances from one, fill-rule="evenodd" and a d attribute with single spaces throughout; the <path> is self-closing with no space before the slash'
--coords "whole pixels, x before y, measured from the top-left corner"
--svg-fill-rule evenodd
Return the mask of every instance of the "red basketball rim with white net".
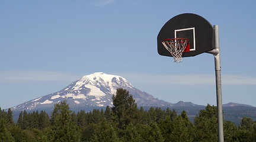
<path id="1" fill-rule="evenodd" d="M 174 57 L 174 62 L 176 63 L 182 62 L 183 52 L 190 51 L 190 42 L 187 38 L 169 38 L 162 40 L 162 44 Z"/>

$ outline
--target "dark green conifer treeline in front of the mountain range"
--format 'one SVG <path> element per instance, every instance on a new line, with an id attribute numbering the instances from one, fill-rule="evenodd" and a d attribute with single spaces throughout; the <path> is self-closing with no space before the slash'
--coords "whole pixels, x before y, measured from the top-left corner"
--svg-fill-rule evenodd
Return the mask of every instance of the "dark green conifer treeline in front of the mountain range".
<path id="1" fill-rule="evenodd" d="M 66 101 L 45 111 L 20 113 L 17 123 L 11 109 L 0 108 L 0 141 L 218 141 L 217 108 L 207 105 L 194 122 L 185 111 L 150 108 L 145 111 L 125 89 L 113 95 L 113 107 L 75 113 Z M 256 121 L 243 117 L 236 126 L 224 122 L 225 141 L 256 141 Z"/>

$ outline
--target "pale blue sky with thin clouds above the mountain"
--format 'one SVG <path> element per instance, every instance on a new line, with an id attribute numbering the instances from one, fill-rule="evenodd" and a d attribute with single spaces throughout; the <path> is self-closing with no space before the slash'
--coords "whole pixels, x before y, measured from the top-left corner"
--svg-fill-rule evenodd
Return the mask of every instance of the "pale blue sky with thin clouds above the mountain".
<path id="1" fill-rule="evenodd" d="M 120 75 L 171 103 L 216 105 L 212 54 L 174 63 L 156 37 L 186 12 L 219 25 L 222 102 L 256 106 L 256 1 L 0 0 L 0 106 L 10 108 L 94 72 Z"/>

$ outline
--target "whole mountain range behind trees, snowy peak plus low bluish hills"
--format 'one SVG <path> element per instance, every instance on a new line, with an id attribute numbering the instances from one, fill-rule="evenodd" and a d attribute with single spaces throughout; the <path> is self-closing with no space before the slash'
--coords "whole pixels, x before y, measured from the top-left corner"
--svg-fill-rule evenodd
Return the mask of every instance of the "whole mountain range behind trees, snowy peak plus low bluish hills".
<path id="1" fill-rule="evenodd" d="M 72 111 L 78 112 L 81 110 L 92 111 L 93 109 L 101 109 L 106 106 L 113 106 L 112 96 L 116 93 L 117 88 L 123 88 L 135 99 L 137 106 L 143 106 L 145 109 L 150 107 L 158 107 L 162 109 L 175 109 L 178 113 L 185 110 L 190 120 L 198 114 L 201 109 L 206 106 L 193 104 L 192 102 L 179 101 L 170 103 L 146 92 L 142 92 L 130 84 L 121 76 L 107 75 L 103 72 L 92 73 L 91 75 L 82 76 L 75 80 L 70 85 L 66 86 L 59 92 L 50 93 L 36 99 L 24 102 L 23 104 L 11 108 L 14 120 L 18 119 L 21 111 L 46 111 L 50 114 L 53 111 L 54 105 L 60 101 L 67 100 Z M 235 108 L 235 110 L 234 110 Z M 223 104 L 224 118 L 233 120 L 236 124 L 241 121 L 244 116 L 256 119 L 256 107 L 244 104 L 230 102 Z M 5 109 L 8 111 L 8 109 Z"/>

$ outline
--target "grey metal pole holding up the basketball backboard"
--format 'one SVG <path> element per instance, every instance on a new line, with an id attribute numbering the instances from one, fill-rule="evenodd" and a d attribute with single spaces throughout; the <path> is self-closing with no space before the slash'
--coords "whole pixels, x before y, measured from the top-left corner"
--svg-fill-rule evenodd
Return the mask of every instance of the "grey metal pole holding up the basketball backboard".
<path id="1" fill-rule="evenodd" d="M 214 25 L 215 30 L 215 50 L 219 53 L 215 56 L 215 76 L 216 76 L 216 95 L 217 95 L 217 122 L 219 142 L 224 142 L 223 134 L 223 111 L 222 111 L 222 88 L 221 88 L 221 76 L 220 76 L 220 47 L 219 47 L 219 25 Z"/>

